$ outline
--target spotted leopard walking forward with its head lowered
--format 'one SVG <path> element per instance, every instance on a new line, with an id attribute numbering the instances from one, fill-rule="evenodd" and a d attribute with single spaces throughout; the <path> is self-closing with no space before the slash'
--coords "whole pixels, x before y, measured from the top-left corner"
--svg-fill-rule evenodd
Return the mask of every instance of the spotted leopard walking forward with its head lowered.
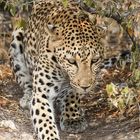
<path id="1" fill-rule="evenodd" d="M 73 1 L 40 0 L 26 28 L 13 31 L 9 55 L 22 107 L 29 107 L 39 140 L 60 140 L 54 102 L 60 101 L 60 129 L 86 130 L 81 98 L 91 92 L 104 59 L 105 29 Z M 25 101 L 26 100 L 26 101 Z"/>

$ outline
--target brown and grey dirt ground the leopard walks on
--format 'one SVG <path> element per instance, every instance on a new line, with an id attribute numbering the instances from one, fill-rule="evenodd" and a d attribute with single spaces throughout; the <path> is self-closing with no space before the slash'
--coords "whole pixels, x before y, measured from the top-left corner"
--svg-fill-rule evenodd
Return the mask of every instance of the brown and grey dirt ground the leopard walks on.
<path id="1" fill-rule="evenodd" d="M 14 81 L 9 66 L 0 65 L 0 71 L 0 140 L 36 140 L 30 113 L 19 106 L 22 90 Z M 60 130 L 62 140 L 140 140 L 139 109 L 131 107 L 121 114 L 110 108 L 102 88 L 82 100 L 88 128 L 79 134 Z M 58 122 L 59 118 L 56 120 Z"/>

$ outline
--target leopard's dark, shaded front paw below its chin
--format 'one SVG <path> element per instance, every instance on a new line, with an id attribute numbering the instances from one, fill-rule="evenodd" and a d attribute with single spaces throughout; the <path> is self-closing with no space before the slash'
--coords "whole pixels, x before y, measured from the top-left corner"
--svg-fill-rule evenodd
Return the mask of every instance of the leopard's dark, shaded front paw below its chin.
<path id="1" fill-rule="evenodd" d="M 87 121 L 81 117 L 76 119 L 67 119 L 60 123 L 62 131 L 68 133 L 80 133 L 83 132 L 87 127 Z"/>

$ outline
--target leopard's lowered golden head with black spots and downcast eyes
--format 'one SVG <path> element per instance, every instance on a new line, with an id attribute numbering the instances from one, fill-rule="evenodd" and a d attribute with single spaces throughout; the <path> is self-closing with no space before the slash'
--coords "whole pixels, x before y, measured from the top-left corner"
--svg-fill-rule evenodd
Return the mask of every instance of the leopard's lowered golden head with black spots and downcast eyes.
<path id="1" fill-rule="evenodd" d="M 104 29 L 93 26 L 89 19 L 74 19 L 56 30 L 54 52 L 58 64 L 67 72 L 70 84 L 82 92 L 95 85 L 96 74 L 104 57 Z M 61 33 L 60 33 L 61 32 Z"/>

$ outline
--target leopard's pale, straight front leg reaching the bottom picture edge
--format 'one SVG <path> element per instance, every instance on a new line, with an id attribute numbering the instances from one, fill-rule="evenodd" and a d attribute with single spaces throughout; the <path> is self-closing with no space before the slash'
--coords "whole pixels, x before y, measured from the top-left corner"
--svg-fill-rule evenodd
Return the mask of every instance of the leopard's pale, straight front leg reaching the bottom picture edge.
<path id="1" fill-rule="evenodd" d="M 46 56 L 39 58 L 33 72 L 31 115 L 40 140 L 60 139 L 54 117 L 53 101 L 59 94 L 61 80 L 60 70 L 56 64 L 47 60 Z"/>

